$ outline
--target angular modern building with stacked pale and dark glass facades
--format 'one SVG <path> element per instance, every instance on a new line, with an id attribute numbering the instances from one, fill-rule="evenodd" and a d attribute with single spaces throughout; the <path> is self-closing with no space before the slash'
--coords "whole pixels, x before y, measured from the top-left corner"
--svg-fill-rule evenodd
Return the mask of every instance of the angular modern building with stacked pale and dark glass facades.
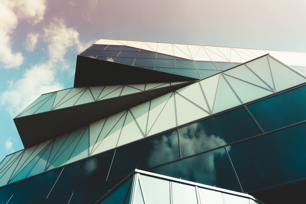
<path id="1" fill-rule="evenodd" d="M 306 53 L 100 39 L 14 118 L 0 202 L 303 198 L 305 74 Z"/>

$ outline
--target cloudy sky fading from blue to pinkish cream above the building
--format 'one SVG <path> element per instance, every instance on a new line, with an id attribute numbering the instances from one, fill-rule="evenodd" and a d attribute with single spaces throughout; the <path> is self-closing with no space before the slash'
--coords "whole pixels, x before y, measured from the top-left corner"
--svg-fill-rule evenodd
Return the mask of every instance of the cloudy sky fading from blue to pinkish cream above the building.
<path id="1" fill-rule="evenodd" d="M 23 149 L 13 122 L 73 87 L 100 38 L 306 52 L 306 0 L 0 0 L 0 161 Z"/>

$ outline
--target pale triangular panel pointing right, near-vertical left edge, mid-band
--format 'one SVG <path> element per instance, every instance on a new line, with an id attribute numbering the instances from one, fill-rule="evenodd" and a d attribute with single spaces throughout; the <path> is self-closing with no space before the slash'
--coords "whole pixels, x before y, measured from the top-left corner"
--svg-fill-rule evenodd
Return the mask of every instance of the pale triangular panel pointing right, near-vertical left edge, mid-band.
<path id="1" fill-rule="evenodd" d="M 178 94 L 175 94 L 175 103 L 177 125 L 182 125 L 209 115 L 207 112 Z"/>

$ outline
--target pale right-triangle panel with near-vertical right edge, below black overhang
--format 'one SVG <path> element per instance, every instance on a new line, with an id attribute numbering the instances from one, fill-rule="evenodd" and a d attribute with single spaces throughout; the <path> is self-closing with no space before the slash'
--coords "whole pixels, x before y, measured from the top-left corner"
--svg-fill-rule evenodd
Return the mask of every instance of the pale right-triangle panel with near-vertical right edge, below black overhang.
<path id="1" fill-rule="evenodd" d="M 153 135 L 155 133 L 161 132 L 169 128 L 173 128 L 175 126 L 177 126 L 177 123 L 175 114 L 174 94 L 172 94 L 172 96 L 166 103 L 164 109 L 162 109 L 162 112 L 160 113 L 159 117 L 153 124 L 151 130 L 148 128 L 148 135 Z"/>

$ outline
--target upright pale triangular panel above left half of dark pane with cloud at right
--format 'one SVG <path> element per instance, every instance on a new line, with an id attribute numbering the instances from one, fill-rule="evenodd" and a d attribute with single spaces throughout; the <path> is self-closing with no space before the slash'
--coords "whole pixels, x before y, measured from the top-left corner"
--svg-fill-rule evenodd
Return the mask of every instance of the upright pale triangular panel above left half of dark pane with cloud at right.
<path id="1" fill-rule="evenodd" d="M 143 133 L 136 124 L 132 114 L 128 111 L 117 146 L 124 145 L 142 138 L 144 138 Z"/>

